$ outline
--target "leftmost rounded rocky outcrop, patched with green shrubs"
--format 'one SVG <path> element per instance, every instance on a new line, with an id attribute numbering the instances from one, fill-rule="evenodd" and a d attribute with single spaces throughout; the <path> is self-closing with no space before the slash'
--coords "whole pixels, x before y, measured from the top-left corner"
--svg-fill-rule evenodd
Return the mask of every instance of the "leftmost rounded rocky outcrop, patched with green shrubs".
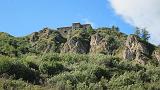
<path id="1" fill-rule="evenodd" d="M 38 52 L 60 52 L 59 46 L 64 38 L 57 31 L 44 28 L 40 32 L 34 32 L 29 37 L 31 47 Z"/>

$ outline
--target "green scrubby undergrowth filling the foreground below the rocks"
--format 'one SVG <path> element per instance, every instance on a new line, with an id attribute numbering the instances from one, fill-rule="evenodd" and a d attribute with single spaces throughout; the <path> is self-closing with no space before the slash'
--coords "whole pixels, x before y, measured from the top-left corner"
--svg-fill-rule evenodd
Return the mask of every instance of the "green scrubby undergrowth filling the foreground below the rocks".
<path id="1" fill-rule="evenodd" d="M 159 90 L 160 66 L 102 54 L 0 57 L 0 88 L 31 90 Z"/>

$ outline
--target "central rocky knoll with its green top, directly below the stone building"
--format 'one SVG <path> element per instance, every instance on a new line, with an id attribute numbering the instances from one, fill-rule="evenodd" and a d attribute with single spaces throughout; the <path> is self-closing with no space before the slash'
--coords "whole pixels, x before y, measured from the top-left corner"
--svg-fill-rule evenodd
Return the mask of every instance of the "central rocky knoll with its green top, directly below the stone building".
<path id="1" fill-rule="evenodd" d="M 61 49 L 62 53 L 89 53 L 90 49 L 90 36 L 87 32 L 83 30 L 74 30 L 70 33 L 67 38 L 67 42 L 63 45 Z"/>

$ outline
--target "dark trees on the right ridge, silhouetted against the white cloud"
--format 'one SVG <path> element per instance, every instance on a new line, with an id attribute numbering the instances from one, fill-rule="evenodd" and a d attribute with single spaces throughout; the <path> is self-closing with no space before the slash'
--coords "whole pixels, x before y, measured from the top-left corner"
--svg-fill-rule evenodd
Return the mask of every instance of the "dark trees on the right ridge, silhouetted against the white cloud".
<path id="1" fill-rule="evenodd" d="M 150 38 L 150 34 L 146 30 L 146 28 L 136 27 L 136 31 L 135 31 L 134 34 L 137 35 L 137 36 L 139 36 L 144 41 L 148 41 L 148 39 Z"/>

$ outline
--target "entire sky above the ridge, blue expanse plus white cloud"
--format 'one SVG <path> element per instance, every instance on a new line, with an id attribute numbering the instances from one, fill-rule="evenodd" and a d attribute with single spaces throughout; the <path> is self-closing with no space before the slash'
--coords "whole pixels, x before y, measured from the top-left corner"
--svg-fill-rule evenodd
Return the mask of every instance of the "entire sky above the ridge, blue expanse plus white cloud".
<path id="1" fill-rule="evenodd" d="M 160 44 L 159 5 L 160 0 L 0 0 L 0 32 L 19 37 L 80 22 L 115 25 L 126 34 L 146 28 L 149 41 Z"/>

